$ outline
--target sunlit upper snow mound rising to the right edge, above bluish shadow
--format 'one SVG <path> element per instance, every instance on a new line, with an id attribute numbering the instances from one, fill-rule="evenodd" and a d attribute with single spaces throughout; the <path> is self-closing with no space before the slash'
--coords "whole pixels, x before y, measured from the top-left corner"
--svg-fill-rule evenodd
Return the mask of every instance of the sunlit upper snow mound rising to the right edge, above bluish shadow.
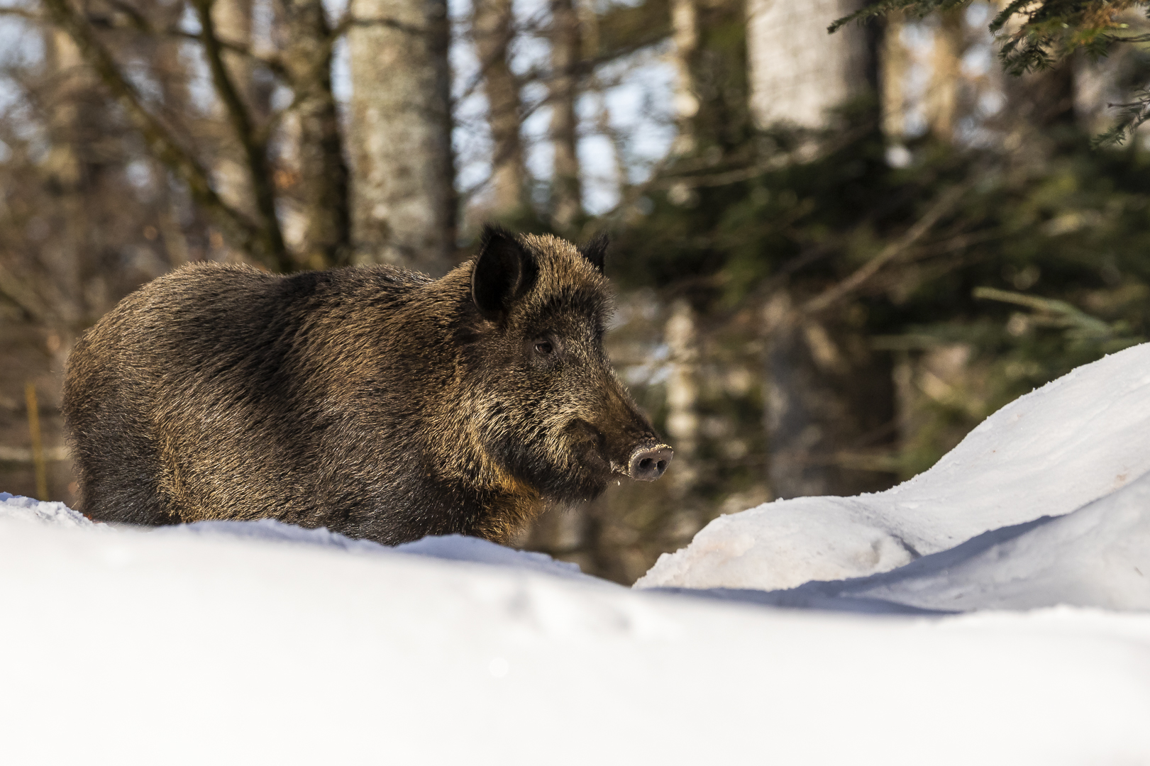
<path id="1" fill-rule="evenodd" d="M 636 588 L 780 590 L 888 572 L 991 529 L 1058 516 L 1150 472 L 1150 344 L 1006 405 L 885 492 L 720 516 Z"/>

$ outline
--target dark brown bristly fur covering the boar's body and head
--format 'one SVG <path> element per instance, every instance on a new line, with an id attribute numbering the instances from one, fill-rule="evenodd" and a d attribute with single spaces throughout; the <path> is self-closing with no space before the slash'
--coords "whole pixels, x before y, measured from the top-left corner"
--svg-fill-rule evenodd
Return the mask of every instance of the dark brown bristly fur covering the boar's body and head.
<path id="1" fill-rule="evenodd" d="M 80 508 L 391 544 L 507 541 L 549 501 L 593 498 L 661 446 L 603 351 L 605 247 L 488 229 L 438 281 L 214 263 L 161 277 L 68 361 Z"/>

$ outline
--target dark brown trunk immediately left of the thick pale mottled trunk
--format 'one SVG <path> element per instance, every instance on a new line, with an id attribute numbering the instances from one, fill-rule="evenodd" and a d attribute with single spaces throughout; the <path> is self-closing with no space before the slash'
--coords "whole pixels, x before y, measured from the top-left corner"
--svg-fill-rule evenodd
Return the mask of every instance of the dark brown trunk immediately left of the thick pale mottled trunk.
<path id="1" fill-rule="evenodd" d="M 298 259 L 310 268 L 351 258 L 347 163 L 331 91 L 332 36 L 321 0 L 283 0 L 284 63 L 296 91 L 304 233 Z"/>

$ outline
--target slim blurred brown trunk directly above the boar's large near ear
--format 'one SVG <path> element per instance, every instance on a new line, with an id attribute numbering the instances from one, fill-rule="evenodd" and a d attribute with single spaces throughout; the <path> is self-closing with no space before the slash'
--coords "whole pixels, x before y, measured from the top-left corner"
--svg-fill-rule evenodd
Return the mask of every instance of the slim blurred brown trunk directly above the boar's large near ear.
<path id="1" fill-rule="evenodd" d="M 511 70 L 507 47 L 514 35 L 511 0 L 476 0 L 473 29 L 475 47 L 483 67 L 488 94 L 488 124 L 494 148 L 491 158 L 491 186 L 499 214 L 523 204 L 523 144 L 520 139 L 519 83 Z"/>

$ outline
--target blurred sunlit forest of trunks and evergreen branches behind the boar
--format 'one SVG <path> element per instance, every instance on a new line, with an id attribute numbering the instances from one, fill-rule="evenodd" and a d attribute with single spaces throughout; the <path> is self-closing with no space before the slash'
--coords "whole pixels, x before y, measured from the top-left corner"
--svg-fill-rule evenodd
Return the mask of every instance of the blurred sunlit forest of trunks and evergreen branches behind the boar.
<path id="1" fill-rule="evenodd" d="M 891 487 L 1150 334 L 1147 5 L 5 0 L 0 489 L 74 500 L 64 360 L 141 283 L 439 276 L 485 221 L 613 236 L 608 350 L 675 446 L 524 547 L 630 583 Z"/>

